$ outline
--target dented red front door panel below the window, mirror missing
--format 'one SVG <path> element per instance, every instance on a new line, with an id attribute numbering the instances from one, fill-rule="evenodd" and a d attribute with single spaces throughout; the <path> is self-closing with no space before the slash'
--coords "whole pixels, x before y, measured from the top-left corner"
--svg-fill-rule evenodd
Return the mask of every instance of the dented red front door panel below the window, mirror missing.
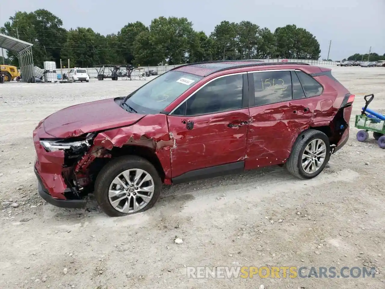
<path id="1" fill-rule="evenodd" d="M 248 119 L 247 108 L 202 116 L 167 116 L 169 131 L 175 138 L 172 177 L 243 161 Z"/>

